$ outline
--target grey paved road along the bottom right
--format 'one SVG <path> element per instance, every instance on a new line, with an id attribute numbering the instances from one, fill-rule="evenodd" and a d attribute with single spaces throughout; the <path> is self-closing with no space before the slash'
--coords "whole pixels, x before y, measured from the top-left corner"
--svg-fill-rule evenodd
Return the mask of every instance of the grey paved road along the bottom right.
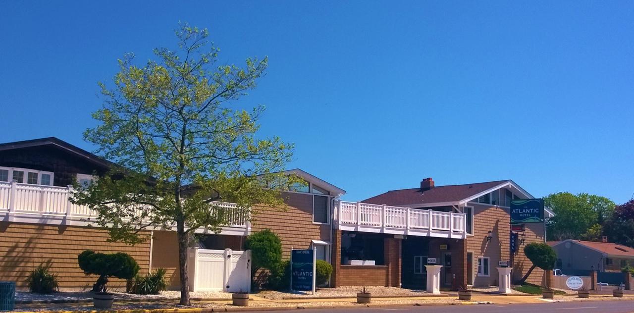
<path id="1" fill-rule="evenodd" d="M 268 313 L 288 313 L 283 311 L 268 311 Z M 633 301 L 593 301 L 593 302 L 556 302 L 534 304 L 474 304 L 474 305 L 422 305 L 420 307 L 384 307 L 384 308 L 342 308 L 342 309 L 305 309 L 303 313 L 634 313 Z"/>

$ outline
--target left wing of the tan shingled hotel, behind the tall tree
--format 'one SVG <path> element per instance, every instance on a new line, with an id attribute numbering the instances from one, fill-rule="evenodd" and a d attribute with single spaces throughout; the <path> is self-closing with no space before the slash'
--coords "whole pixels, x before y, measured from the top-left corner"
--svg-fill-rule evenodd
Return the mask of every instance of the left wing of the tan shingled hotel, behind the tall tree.
<path id="1" fill-rule="evenodd" d="M 29 271 L 44 264 L 58 274 L 60 286 L 89 288 L 94 278 L 77 265 L 83 250 L 126 252 L 141 265 L 141 274 L 165 268 L 171 288 L 178 288 L 178 243 L 173 229 L 148 229 L 152 240 L 135 246 L 108 242 L 104 229 L 88 227 L 94 212 L 68 201 L 74 181 L 89 184 L 113 163 L 55 137 L 0 144 L 0 280 L 24 288 Z M 241 250 L 245 236 L 269 228 L 278 234 L 285 257 L 290 248 L 316 248 L 318 259 L 330 261 L 333 200 L 344 190 L 302 170 L 287 173 L 304 178 L 304 186 L 283 193 L 286 210 L 254 207 L 246 217 L 222 227 L 218 234 L 198 229 L 198 246 Z M 113 279 L 112 287 L 125 286 Z"/>

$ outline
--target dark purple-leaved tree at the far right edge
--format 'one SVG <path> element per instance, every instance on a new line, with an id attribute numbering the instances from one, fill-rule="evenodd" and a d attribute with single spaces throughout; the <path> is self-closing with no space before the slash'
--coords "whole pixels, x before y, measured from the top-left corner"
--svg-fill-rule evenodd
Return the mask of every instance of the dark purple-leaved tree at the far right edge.
<path id="1" fill-rule="evenodd" d="M 634 199 L 614 208 L 607 220 L 605 234 L 610 242 L 634 247 Z"/>

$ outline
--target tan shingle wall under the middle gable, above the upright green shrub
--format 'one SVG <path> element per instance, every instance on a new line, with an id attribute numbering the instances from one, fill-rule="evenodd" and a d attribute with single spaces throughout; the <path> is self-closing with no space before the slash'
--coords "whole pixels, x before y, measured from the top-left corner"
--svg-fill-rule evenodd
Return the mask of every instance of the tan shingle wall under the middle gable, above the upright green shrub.
<path id="1" fill-rule="evenodd" d="M 290 258 L 290 248 L 310 248 L 311 240 L 331 241 L 329 224 L 313 224 L 313 195 L 283 193 L 286 210 L 256 206 L 252 231 L 271 229 L 280 236 L 283 258 Z"/>

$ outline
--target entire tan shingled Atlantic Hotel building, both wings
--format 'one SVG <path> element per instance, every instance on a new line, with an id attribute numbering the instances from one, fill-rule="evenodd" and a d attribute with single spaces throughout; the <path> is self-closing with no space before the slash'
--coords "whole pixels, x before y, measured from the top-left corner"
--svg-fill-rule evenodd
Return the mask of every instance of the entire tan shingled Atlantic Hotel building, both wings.
<path id="1" fill-rule="evenodd" d="M 0 280 L 25 289 L 29 272 L 47 265 L 61 290 L 89 289 L 94 277 L 77 265 L 77 255 L 89 249 L 129 253 L 139 274 L 164 268 L 169 288 L 179 288 L 173 227 L 143 230 L 150 240 L 134 246 L 110 242 L 105 229 L 89 225 L 96 213 L 70 201 L 74 181 L 89 184 L 112 165 L 55 137 L 0 144 Z M 519 279 L 531 267 L 524 246 L 544 242 L 544 219 L 512 229 L 511 200 L 534 197 L 511 180 L 435 186 L 427 178 L 410 189 L 351 202 L 341 200 L 344 189 L 304 170 L 286 173 L 305 181 L 282 193 L 286 210 L 256 205 L 252 216 L 232 215 L 219 233 L 196 229 L 188 252 L 191 290 L 247 290 L 250 254 L 243 251 L 244 240 L 263 229 L 280 237 L 284 259 L 292 248 L 314 249 L 317 259 L 330 262 L 333 287 L 424 290 L 430 263 L 440 265 L 441 289 L 497 286 L 500 262 Z M 222 205 L 229 212 L 235 207 Z M 542 213 L 552 216 L 547 209 Z M 543 279 L 536 269 L 528 282 Z M 125 288 L 126 282 L 112 279 L 110 286 Z"/>

